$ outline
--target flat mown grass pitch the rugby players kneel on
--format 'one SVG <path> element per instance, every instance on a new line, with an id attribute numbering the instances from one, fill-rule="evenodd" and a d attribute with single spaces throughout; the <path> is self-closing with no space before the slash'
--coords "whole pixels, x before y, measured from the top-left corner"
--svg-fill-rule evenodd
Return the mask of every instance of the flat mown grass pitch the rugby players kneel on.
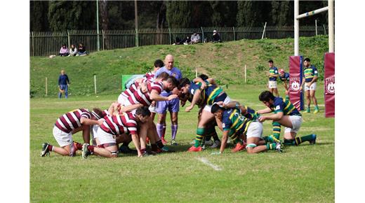
<path id="1" fill-rule="evenodd" d="M 211 155 L 211 149 L 187 153 L 196 132 L 195 107 L 190 113 L 180 111 L 179 145 L 171 146 L 175 153 L 147 158 L 120 155 L 116 159 L 106 159 L 91 156 L 87 160 L 80 155 L 69 158 L 51 153 L 51 157 L 41 158 L 39 153 L 43 142 L 56 144 L 52 129 L 60 115 L 80 107 L 105 109 L 118 95 L 71 96 L 67 100 L 56 97 L 30 99 L 30 200 L 334 202 L 335 122 L 334 118 L 324 118 L 323 84 L 317 86 L 320 113 L 304 114 L 304 123 L 299 132 L 300 135 L 317 134 L 317 144 L 310 146 L 304 143 L 284 148 L 284 153 L 272 151 L 257 155 L 231 153 L 229 149 L 222 155 Z M 258 101 L 258 94 L 265 90 L 265 85 L 230 85 L 225 90 L 232 99 L 253 109 L 265 107 Z M 166 129 L 166 137 L 169 138 L 169 125 Z M 271 123 L 265 122 L 264 135 L 270 133 Z M 218 134 L 221 136 L 222 133 Z M 74 140 L 81 142 L 81 134 L 75 134 Z M 215 171 L 199 158 L 206 158 L 222 170 Z"/>

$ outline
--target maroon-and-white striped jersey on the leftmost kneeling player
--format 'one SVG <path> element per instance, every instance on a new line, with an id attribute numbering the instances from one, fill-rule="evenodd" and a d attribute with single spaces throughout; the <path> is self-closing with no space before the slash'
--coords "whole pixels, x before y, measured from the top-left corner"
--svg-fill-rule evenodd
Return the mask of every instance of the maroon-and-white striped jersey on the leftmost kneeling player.
<path id="1" fill-rule="evenodd" d="M 69 133 L 77 127 L 81 127 L 81 118 L 91 118 L 91 113 L 88 109 L 75 109 L 65 113 L 55 122 L 55 126 L 63 132 Z"/>

